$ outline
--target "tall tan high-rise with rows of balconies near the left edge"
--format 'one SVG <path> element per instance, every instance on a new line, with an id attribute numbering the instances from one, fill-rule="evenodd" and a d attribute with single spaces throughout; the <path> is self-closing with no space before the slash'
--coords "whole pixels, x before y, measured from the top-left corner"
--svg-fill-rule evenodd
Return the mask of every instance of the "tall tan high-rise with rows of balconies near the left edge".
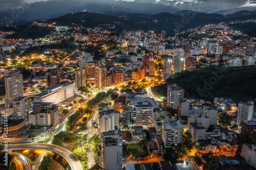
<path id="1" fill-rule="evenodd" d="M 6 100 L 12 102 L 15 95 L 24 96 L 23 78 L 20 71 L 10 71 L 5 74 L 5 92 Z"/>

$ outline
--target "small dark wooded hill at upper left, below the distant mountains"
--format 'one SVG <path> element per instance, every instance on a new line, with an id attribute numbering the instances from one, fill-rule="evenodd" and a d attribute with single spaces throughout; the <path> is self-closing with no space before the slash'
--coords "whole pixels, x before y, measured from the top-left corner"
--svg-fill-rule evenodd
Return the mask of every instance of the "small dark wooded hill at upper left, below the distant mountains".
<path id="1" fill-rule="evenodd" d="M 6 37 L 12 39 L 38 39 L 45 37 L 51 31 L 54 31 L 54 29 L 50 27 L 26 27 Z"/>

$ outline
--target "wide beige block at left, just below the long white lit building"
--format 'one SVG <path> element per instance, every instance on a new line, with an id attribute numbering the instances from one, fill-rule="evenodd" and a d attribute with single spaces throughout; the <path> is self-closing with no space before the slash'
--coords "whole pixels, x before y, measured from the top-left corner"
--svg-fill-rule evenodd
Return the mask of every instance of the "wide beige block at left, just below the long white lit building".
<path id="1" fill-rule="evenodd" d="M 58 106 L 47 102 L 35 102 L 29 114 L 29 123 L 35 126 L 50 126 L 59 122 Z"/>

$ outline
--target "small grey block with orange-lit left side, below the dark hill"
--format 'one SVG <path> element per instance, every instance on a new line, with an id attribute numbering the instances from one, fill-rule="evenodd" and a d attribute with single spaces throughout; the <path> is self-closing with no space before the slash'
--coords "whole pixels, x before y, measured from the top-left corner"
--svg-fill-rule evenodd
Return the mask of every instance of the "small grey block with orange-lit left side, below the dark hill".
<path id="1" fill-rule="evenodd" d="M 205 139 L 206 129 L 202 126 L 202 123 L 187 123 L 189 133 L 194 141 Z"/>

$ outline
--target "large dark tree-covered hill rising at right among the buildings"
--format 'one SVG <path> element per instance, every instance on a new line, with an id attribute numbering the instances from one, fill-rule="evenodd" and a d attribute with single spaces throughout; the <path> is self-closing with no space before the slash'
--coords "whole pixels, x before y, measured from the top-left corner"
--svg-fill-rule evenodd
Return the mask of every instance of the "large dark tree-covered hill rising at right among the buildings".
<path id="1" fill-rule="evenodd" d="M 192 71 L 178 72 L 165 84 L 152 87 L 152 92 L 167 96 L 167 85 L 177 84 L 184 88 L 185 98 L 213 101 L 216 97 L 228 97 L 234 102 L 256 98 L 256 66 L 221 67 L 209 66 Z"/>

